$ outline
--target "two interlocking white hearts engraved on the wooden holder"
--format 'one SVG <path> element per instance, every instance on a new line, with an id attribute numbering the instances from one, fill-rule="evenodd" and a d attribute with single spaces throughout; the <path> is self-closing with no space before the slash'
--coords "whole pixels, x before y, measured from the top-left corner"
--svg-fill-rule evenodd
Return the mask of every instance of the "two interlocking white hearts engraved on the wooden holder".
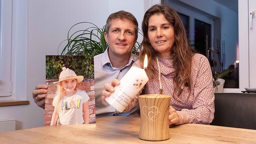
<path id="1" fill-rule="evenodd" d="M 146 111 L 149 111 L 148 114 L 146 114 Z M 143 106 L 142 107 L 142 112 L 143 112 L 144 116 L 149 121 L 152 120 L 153 122 L 155 122 L 155 120 L 157 120 L 159 118 L 158 114 L 160 114 L 160 112 L 158 111 L 158 108 L 156 106 L 152 106 L 150 108 L 147 107 L 147 106 Z"/>

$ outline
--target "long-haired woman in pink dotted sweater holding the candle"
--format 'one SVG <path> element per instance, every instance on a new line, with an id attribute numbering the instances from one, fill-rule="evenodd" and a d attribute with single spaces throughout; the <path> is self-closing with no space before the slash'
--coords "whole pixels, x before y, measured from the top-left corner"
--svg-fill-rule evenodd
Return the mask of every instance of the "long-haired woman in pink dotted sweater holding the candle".
<path id="1" fill-rule="evenodd" d="M 149 77 L 145 94 L 171 95 L 169 125 L 209 124 L 214 118 L 214 93 L 211 68 L 207 58 L 189 46 L 182 21 L 171 7 L 154 5 L 142 22 L 143 41 L 139 60 L 133 66 L 142 68 L 145 54 Z M 118 80 L 112 81 L 112 86 Z M 106 84 L 106 90 L 113 89 Z M 103 100 L 110 93 L 102 91 Z M 138 94 L 139 95 L 139 94 Z M 125 111 L 137 101 L 137 96 Z"/>

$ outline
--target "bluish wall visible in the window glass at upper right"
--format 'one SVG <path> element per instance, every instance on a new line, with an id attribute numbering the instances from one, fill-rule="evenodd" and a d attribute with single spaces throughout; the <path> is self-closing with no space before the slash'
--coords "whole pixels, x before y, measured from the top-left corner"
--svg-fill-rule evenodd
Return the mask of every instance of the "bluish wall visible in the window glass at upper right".
<path id="1" fill-rule="evenodd" d="M 166 0 L 168 1 L 168 0 Z M 221 19 L 221 39 L 225 40 L 226 63 L 225 69 L 239 60 L 236 49 L 238 48 L 238 13 L 213 0 L 170 0 L 178 3 L 185 3 L 210 16 Z M 216 45 L 216 40 L 215 40 Z M 240 49 L 241 50 L 241 49 Z"/>

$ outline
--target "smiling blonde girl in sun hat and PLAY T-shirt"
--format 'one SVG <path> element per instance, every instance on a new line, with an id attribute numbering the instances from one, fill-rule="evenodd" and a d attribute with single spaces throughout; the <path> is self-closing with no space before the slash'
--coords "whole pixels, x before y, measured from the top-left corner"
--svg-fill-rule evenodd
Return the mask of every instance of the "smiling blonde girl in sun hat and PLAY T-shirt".
<path id="1" fill-rule="evenodd" d="M 77 88 L 84 77 L 77 76 L 73 70 L 62 68 L 57 83 L 57 92 L 52 105 L 54 112 L 50 125 L 70 125 L 89 123 L 89 96 Z M 84 118 L 83 119 L 83 113 Z"/>

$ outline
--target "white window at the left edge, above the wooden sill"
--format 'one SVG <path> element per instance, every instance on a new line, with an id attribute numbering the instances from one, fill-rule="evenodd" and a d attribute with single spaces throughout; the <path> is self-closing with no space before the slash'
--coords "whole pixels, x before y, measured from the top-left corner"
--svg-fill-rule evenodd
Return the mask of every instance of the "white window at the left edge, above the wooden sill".
<path id="1" fill-rule="evenodd" d="M 0 3 L 0 100 L 26 100 L 27 0 Z"/>

